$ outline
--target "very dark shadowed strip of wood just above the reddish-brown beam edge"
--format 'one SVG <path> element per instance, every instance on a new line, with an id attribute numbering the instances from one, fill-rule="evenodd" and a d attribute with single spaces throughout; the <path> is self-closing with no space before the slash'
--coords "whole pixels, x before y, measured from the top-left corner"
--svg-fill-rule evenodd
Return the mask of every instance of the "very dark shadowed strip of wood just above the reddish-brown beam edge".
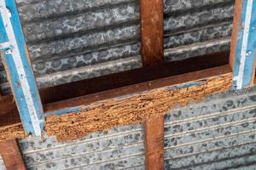
<path id="1" fill-rule="evenodd" d="M 73 99 L 105 90 L 148 82 L 164 77 L 173 77 L 192 71 L 200 71 L 229 63 L 229 52 L 201 55 L 182 61 L 163 63 L 131 71 L 124 71 L 104 77 L 96 77 L 78 82 L 70 82 L 51 88 L 40 89 L 43 104 Z M 84 86 L 86 84 L 86 86 Z M 72 89 L 72 90 L 70 90 Z"/>

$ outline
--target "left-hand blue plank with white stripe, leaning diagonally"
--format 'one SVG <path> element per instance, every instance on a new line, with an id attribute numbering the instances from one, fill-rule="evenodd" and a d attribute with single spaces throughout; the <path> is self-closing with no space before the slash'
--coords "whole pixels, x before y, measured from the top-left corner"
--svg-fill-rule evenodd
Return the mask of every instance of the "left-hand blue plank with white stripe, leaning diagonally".
<path id="1" fill-rule="evenodd" d="M 40 136 L 44 127 L 44 111 L 26 54 L 26 42 L 15 0 L 1 0 L 0 14 L 3 21 L 1 32 L 5 32 L 11 46 L 10 49 L 5 50 L 3 64 L 20 112 L 20 119 L 26 133 Z"/>

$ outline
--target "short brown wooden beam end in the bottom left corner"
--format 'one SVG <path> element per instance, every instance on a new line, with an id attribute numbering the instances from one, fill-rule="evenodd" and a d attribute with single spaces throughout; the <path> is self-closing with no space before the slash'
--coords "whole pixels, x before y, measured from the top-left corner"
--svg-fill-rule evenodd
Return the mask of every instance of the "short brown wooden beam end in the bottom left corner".
<path id="1" fill-rule="evenodd" d="M 15 139 L 0 141 L 0 154 L 7 170 L 26 170 Z"/>

